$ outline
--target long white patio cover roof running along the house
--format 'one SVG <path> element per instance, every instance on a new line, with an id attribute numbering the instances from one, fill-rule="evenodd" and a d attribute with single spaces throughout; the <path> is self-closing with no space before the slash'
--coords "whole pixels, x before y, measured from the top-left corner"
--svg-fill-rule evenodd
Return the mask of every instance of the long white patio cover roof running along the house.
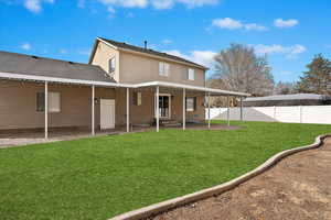
<path id="1" fill-rule="evenodd" d="M 70 79 L 70 78 L 58 78 L 49 76 L 35 76 L 25 74 L 12 74 L 12 73 L 1 73 L 0 78 L 2 79 L 14 79 L 14 80 L 28 80 L 28 81 L 47 81 L 57 84 L 73 84 L 73 85 L 85 85 L 85 86 L 96 86 L 96 87 L 111 87 L 111 88 L 143 88 L 143 87 L 166 87 L 166 88 L 177 88 L 177 89 L 188 89 L 210 94 L 210 96 L 238 96 L 248 97 L 249 94 L 227 91 L 222 89 L 213 89 L 207 87 L 191 86 L 185 84 L 175 84 L 168 81 L 149 81 L 141 84 L 118 84 L 118 82 L 107 82 L 107 81 L 94 81 L 85 79 Z"/>

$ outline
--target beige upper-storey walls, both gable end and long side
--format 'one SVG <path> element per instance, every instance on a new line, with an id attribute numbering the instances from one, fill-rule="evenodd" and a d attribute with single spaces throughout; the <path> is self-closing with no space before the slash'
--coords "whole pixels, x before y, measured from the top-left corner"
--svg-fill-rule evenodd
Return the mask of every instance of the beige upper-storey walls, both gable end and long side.
<path id="1" fill-rule="evenodd" d="M 175 62 L 170 64 L 168 77 L 159 75 L 159 62 L 161 58 L 143 54 L 117 51 L 104 42 L 98 42 L 92 64 L 100 66 L 106 73 L 109 69 L 109 59 L 116 57 L 116 69 L 114 79 L 118 82 L 137 84 L 146 81 L 170 81 L 193 86 L 205 86 L 205 73 L 203 69 Z M 195 79 L 188 80 L 188 68 L 195 69 Z"/>

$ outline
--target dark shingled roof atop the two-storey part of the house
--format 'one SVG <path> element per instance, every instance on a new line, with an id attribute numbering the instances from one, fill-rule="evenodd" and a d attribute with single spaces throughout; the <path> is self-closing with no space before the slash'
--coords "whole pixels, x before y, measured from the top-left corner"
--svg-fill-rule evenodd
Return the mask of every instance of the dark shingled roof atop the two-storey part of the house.
<path id="1" fill-rule="evenodd" d="M 172 59 L 174 62 L 181 62 L 181 63 L 185 63 L 188 65 L 193 65 L 196 66 L 199 68 L 203 68 L 203 69 L 209 69 L 207 67 L 196 64 L 194 62 L 190 62 L 188 59 L 184 59 L 182 57 L 179 56 L 174 56 L 171 54 L 167 54 L 167 53 L 162 53 L 162 52 L 158 52 L 158 51 L 153 51 L 150 48 L 145 48 L 145 47 L 140 47 L 140 46 L 135 46 L 135 45 L 130 45 L 124 42 L 117 42 L 117 41 L 113 41 L 113 40 L 108 40 L 108 38 L 104 38 L 104 37 L 98 37 L 99 40 L 107 42 L 108 44 L 111 44 L 118 48 L 122 48 L 122 50 L 129 50 L 129 51 L 134 51 L 134 52 L 139 52 L 139 53 L 145 53 L 145 54 L 149 54 L 149 55 L 153 55 L 153 56 L 159 56 L 160 58 L 168 58 L 168 59 Z M 94 52 L 93 52 L 94 54 Z"/>

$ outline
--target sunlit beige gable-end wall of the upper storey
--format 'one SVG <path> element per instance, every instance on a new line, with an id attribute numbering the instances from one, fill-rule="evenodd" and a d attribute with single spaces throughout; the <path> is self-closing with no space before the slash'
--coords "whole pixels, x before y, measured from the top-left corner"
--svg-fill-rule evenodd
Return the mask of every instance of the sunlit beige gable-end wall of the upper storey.
<path id="1" fill-rule="evenodd" d="M 109 59 L 116 58 L 116 68 L 114 79 L 119 81 L 119 52 L 104 42 L 98 42 L 97 50 L 93 57 L 92 64 L 100 66 L 106 73 L 109 70 Z"/>

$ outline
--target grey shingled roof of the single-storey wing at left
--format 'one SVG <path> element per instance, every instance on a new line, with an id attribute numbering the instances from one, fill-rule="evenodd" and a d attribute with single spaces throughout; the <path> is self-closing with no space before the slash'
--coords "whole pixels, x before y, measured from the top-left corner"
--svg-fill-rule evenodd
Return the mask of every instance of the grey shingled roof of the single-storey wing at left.
<path id="1" fill-rule="evenodd" d="M 115 82 L 99 66 L 0 51 L 0 72 Z"/>

